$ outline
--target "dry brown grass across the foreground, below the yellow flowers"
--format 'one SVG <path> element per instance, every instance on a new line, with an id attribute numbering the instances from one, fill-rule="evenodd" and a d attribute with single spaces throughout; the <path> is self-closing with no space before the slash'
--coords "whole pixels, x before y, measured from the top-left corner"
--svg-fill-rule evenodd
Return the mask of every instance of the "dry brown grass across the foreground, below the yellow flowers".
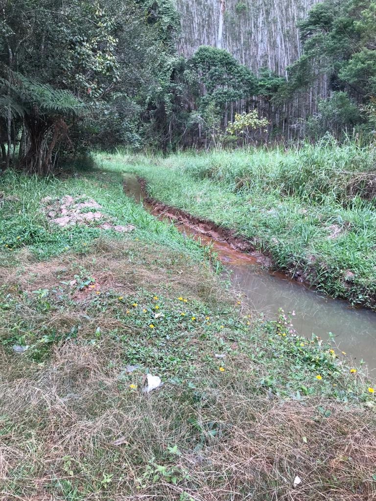
<path id="1" fill-rule="evenodd" d="M 14 357 L 9 371 L 2 354 L 0 399 L 13 423 L 0 448 L 3 499 L 179 499 L 183 491 L 197 501 L 368 501 L 376 495 L 374 414 L 325 399 L 250 399 L 236 367 L 220 384 L 217 376 L 200 375 L 200 405 L 183 387 L 165 385 L 145 396 L 119 389 L 119 369 L 108 368 L 109 359 L 121 364 L 116 346 L 68 344 L 22 374 L 21 358 Z M 122 444 L 114 446 L 119 437 Z M 166 452 L 175 444 L 179 456 Z M 178 468 L 178 476 L 189 472 L 190 479 L 174 485 L 144 478 L 137 489 L 150 463 Z M 113 475 L 107 489 L 103 473 Z M 295 475 L 302 479 L 297 489 Z M 57 478 L 74 486 L 69 495 Z"/>

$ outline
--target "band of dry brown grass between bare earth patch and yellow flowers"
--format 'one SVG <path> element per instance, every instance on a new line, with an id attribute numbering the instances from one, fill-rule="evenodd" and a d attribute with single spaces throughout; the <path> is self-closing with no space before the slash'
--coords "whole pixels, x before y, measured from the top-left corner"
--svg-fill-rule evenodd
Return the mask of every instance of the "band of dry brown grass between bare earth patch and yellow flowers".
<path id="1" fill-rule="evenodd" d="M 48 262 L 21 256 L 13 266 L 0 268 L 0 284 L 13 291 L 51 290 L 73 280 L 80 270 L 94 277 L 103 292 L 132 294 L 147 287 L 167 297 L 188 295 L 210 303 L 231 298 L 218 288 L 207 265 L 190 263 L 186 256 L 159 245 L 104 238 L 95 241 L 86 256 L 65 254 Z"/>

